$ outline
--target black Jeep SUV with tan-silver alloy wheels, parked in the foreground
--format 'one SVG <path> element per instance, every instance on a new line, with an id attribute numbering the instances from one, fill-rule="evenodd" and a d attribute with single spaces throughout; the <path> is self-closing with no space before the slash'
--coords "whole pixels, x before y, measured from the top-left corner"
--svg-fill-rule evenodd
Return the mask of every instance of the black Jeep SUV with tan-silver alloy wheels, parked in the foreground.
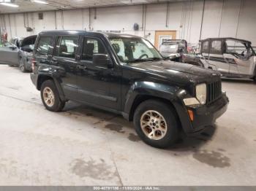
<path id="1" fill-rule="evenodd" d="M 72 100 L 122 114 L 153 147 L 170 146 L 179 130 L 200 132 L 227 109 L 219 73 L 165 61 L 139 36 L 44 31 L 32 63 L 46 109 Z"/>

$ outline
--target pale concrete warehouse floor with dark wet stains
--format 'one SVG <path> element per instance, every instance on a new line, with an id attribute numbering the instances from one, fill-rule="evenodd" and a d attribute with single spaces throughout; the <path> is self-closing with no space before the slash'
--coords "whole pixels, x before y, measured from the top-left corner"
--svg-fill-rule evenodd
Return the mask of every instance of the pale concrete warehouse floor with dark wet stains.
<path id="1" fill-rule="evenodd" d="M 216 128 L 155 149 L 120 116 L 74 103 L 48 112 L 29 73 L 0 65 L 0 184 L 255 185 L 256 85 L 223 89 Z"/>

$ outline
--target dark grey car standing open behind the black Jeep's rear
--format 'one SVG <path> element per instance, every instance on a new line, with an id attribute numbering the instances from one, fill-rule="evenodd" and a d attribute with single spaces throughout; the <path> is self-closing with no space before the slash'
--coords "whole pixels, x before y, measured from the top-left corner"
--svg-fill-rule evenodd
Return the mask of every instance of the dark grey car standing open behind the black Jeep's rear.
<path id="1" fill-rule="evenodd" d="M 24 39 L 14 38 L 0 44 L 0 63 L 19 66 L 23 72 L 31 71 L 31 58 L 37 35 Z M 14 43 L 14 44 L 12 44 Z"/>

